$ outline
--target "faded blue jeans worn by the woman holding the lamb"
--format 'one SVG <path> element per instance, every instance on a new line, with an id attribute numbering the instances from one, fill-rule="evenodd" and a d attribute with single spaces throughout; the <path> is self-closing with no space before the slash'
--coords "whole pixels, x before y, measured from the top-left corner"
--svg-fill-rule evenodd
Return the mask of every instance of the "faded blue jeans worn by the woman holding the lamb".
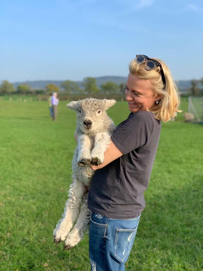
<path id="1" fill-rule="evenodd" d="M 112 219 L 98 213 L 90 216 L 89 257 L 92 271 L 123 271 L 140 216 Z"/>

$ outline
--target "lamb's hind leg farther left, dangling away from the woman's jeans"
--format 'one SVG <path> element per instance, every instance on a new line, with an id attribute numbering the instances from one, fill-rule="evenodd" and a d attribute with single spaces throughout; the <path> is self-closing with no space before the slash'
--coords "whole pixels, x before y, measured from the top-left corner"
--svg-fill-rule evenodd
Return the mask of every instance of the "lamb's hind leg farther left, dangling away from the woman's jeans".
<path id="1" fill-rule="evenodd" d="M 66 239 L 78 216 L 84 193 L 85 186 L 77 179 L 74 179 L 70 185 L 69 199 L 66 202 L 63 216 L 56 225 L 56 229 L 54 229 L 54 243 L 59 243 Z"/>

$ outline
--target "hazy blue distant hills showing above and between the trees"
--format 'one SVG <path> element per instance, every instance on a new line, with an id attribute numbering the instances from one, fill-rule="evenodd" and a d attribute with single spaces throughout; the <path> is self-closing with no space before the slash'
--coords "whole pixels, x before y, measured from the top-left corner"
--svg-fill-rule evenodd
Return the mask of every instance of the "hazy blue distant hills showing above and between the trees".
<path id="1" fill-rule="evenodd" d="M 102 84 L 106 82 L 114 82 L 116 84 L 126 83 L 127 77 L 124 76 L 101 76 L 95 77 L 97 79 L 97 86 L 100 87 Z M 65 81 L 65 80 L 63 80 Z M 15 82 L 13 83 L 14 87 L 16 88 L 18 85 L 28 84 L 32 87 L 32 89 L 45 89 L 45 86 L 48 84 L 55 84 L 56 86 L 60 86 L 63 81 L 59 80 L 35 80 L 35 81 L 25 81 L 25 82 Z M 176 86 L 181 89 L 187 89 L 191 87 L 191 80 L 177 80 L 175 81 Z M 83 88 L 82 83 L 83 81 L 75 81 L 80 88 Z M 201 88 L 201 85 L 199 86 Z"/>

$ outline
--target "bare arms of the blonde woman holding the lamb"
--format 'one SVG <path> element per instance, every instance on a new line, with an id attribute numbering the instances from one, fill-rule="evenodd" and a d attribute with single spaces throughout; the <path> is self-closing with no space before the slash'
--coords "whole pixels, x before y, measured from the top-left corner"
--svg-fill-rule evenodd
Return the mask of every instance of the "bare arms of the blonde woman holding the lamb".
<path id="1" fill-rule="evenodd" d="M 78 144 L 77 132 L 75 132 L 74 136 L 75 136 L 75 141 Z M 88 164 L 88 166 L 92 170 L 97 170 L 97 169 L 100 169 L 102 167 L 105 167 L 106 165 L 108 165 L 109 163 L 111 163 L 112 161 L 117 159 L 118 157 L 121 157 L 122 155 L 123 155 L 123 153 L 115 146 L 115 144 L 112 141 L 110 141 L 109 147 L 104 152 L 104 161 L 103 161 L 103 163 L 101 165 L 99 165 L 99 166 L 93 166 L 91 164 Z"/>

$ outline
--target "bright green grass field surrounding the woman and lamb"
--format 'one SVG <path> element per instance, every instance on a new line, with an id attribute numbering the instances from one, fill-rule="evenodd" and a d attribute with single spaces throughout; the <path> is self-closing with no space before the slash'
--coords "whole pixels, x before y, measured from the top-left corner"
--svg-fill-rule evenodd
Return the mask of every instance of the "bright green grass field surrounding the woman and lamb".
<path id="1" fill-rule="evenodd" d="M 76 117 L 65 105 L 54 123 L 47 102 L 0 101 L 0 270 L 90 270 L 88 236 L 69 251 L 52 237 L 72 182 Z M 127 103 L 108 114 L 118 124 Z M 203 270 L 202 134 L 183 113 L 162 123 L 126 270 Z"/>

